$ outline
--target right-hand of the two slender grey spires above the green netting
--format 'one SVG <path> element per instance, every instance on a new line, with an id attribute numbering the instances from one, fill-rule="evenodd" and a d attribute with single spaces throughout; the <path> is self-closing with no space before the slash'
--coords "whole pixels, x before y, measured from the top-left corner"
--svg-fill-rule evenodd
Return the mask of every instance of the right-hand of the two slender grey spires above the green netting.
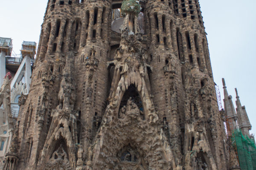
<path id="1" fill-rule="evenodd" d="M 236 113 L 238 115 L 239 128 L 244 136 L 250 137 L 249 130 L 251 130 L 252 125 L 250 124 L 248 115 L 245 110 L 245 106 L 241 105 L 237 89 L 236 90 Z"/>

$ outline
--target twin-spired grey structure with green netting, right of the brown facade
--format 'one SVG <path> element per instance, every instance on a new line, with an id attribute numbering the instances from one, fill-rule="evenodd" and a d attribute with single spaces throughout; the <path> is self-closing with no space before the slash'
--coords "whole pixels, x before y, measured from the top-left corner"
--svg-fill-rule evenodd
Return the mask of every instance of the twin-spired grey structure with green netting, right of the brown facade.
<path id="1" fill-rule="evenodd" d="M 256 170 L 256 145 L 254 136 L 249 133 L 252 125 L 248 118 L 245 106 L 241 105 L 238 91 L 236 90 L 236 109 L 233 105 L 232 96 L 228 95 L 225 80 L 222 79 L 224 89 L 224 124 L 230 147 L 234 148 L 241 170 Z M 217 99 L 218 90 L 217 91 Z M 220 103 L 221 104 L 221 103 Z M 221 108 L 221 105 L 219 105 Z"/>

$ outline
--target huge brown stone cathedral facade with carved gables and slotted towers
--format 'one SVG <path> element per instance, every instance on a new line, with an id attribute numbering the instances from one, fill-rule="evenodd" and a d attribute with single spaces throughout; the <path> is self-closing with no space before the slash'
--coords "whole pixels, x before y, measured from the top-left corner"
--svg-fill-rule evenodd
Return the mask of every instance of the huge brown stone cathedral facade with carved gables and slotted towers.
<path id="1" fill-rule="evenodd" d="M 49 0 L 20 99 L 5 170 L 240 169 L 198 0 Z"/>

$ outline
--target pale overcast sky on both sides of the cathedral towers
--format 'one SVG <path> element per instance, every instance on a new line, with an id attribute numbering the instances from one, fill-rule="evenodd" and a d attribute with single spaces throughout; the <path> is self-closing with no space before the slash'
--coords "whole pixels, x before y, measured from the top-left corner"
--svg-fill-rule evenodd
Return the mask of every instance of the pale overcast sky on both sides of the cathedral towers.
<path id="1" fill-rule="evenodd" d="M 256 0 L 199 0 L 207 32 L 215 83 L 221 90 L 221 78 L 233 96 L 238 88 L 241 104 L 256 134 Z M 24 41 L 38 44 L 47 0 L 1 0 L 0 37 L 13 39 L 13 51 L 20 54 Z"/>

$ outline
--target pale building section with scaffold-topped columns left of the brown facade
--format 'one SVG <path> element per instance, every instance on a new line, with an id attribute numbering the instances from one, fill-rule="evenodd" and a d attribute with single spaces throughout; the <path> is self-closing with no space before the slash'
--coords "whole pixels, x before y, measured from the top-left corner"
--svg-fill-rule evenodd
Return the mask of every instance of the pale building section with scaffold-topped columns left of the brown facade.
<path id="1" fill-rule="evenodd" d="M 29 93 L 35 42 L 23 41 L 21 54 L 12 55 L 12 39 L 0 37 L 0 169 L 9 151 L 22 97 Z"/>

